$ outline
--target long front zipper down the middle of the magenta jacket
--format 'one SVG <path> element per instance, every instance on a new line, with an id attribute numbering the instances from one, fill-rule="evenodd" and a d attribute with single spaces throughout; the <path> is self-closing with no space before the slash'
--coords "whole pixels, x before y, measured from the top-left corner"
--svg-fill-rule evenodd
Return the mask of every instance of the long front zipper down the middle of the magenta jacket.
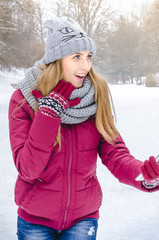
<path id="1" fill-rule="evenodd" d="M 71 128 L 69 130 L 69 137 L 70 137 L 70 156 L 69 156 L 69 165 L 68 165 L 68 195 L 67 195 L 67 205 L 64 213 L 64 221 L 62 225 L 62 229 L 64 229 L 66 220 L 67 220 L 67 215 L 68 215 L 68 208 L 70 205 L 70 199 L 71 199 L 71 166 L 72 166 L 72 132 Z"/>

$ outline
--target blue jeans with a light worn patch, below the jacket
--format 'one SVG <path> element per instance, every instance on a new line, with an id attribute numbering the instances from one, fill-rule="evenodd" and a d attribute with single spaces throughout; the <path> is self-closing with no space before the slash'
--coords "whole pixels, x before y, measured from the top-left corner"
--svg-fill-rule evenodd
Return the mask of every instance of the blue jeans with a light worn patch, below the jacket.
<path id="1" fill-rule="evenodd" d="M 58 231 L 18 217 L 18 240 L 96 240 L 98 219 L 85 218 L 73 227 Z"/>

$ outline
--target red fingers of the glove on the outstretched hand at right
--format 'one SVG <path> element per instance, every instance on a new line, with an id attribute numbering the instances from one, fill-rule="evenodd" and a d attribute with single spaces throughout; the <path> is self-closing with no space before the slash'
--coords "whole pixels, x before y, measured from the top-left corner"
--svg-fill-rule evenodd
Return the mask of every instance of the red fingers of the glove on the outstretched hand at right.
<path id="1" fill-rule="evenodd" d="M 141 172 L 147 182 L 157 181 L 159 179 L 159 165 L 155 157 L 150 157 L 141 167 Z"/>

